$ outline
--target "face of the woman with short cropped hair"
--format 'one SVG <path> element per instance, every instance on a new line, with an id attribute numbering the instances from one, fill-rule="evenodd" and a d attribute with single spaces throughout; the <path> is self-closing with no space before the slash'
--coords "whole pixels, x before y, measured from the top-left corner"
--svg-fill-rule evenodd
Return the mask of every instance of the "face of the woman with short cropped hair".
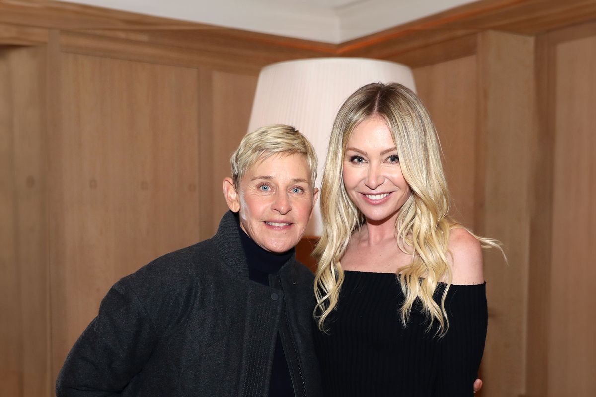
<path id="1" fill-rule="evenodd" d="M 238 187 L 240 227 L 267 251 L 287 251 L 302 238 L 317 192 L 304 155 L 277 154 L 259 160 Z"/>

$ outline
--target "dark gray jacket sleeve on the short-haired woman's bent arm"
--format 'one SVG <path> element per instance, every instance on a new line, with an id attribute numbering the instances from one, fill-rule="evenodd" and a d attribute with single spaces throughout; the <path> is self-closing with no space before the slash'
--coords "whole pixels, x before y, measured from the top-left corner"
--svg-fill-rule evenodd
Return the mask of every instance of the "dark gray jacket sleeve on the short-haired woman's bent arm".
<path id="1" fill-rule="evenodd" d="M 56 381 L 56 395 L 119 395 L 147 362 L 156 343 L 147 312 L 120 280 L 67 356 Z"/>

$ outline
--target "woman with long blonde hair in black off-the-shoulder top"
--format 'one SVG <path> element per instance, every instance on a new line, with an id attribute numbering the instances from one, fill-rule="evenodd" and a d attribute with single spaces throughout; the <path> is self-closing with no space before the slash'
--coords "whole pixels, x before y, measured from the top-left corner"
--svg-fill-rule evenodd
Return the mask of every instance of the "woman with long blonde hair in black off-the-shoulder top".
<path id="1" fill-rule="evenodd" d="M 356 90 L 333 125 L 315 248 L 327 396 L 473 395 L 487 309 L 482 247 L 449 217 L 436 132 L 399 84 Z"/>

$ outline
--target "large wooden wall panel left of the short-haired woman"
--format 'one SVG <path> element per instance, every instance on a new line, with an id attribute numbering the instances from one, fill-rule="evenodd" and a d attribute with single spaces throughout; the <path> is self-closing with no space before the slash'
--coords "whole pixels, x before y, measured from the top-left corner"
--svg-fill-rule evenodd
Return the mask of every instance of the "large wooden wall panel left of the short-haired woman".
<path id="1" fill-rule="evenodd" d="M 198 241 L 197 70 L 63 54 L 48 176 L 53 370 L 108 288 Z"/>

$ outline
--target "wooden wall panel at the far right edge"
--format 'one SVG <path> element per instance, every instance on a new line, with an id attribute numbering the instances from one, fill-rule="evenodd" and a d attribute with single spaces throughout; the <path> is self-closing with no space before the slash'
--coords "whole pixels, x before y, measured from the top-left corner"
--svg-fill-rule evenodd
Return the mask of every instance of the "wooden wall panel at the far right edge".
<path id="1" fill-rule="evenodd" d="M 555 49 L 548 396 L 596 393 L 596 36 Z"/>

